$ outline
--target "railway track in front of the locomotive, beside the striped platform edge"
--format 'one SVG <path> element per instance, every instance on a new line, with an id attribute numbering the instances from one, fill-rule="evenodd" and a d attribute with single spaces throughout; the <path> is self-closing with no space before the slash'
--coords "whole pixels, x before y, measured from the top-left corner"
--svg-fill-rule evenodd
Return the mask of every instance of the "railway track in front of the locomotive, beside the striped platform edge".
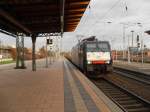
<path id="1" fill-rule="evenodd" d="M 92 81 L 124 112 L 150 112 L 150 102 L 145 102 L 119 85 L 105 78 Z"/>

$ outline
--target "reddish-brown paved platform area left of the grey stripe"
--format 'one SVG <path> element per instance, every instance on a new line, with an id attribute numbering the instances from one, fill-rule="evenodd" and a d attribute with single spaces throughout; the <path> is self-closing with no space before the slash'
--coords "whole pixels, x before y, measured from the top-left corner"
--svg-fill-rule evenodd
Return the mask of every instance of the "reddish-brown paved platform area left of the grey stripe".
<path id="1" fill-rule="evenodd" d="M 63 65 L 0 72 L 1 112 L 63 112 Z"/>

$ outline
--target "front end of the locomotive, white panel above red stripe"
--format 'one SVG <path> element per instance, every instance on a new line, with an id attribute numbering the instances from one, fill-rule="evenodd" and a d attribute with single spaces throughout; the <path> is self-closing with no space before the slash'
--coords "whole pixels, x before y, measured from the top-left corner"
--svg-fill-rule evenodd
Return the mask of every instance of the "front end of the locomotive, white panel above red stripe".
<path id="1" fill-rule="evenodd" d="M 106 72 L 112 69 L 111 50 L 108 42 L 87 43 L 87 72 Z"/>

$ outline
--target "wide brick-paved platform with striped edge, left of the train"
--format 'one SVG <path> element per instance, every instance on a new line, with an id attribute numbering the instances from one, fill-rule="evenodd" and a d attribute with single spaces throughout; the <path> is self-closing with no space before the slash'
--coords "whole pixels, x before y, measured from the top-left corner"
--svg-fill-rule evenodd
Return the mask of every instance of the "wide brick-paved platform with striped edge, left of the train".
<path id="1" fill-rule="evenodd" d="M 0 72 L 0 112 L 122 112 L 66 59 Z"/>

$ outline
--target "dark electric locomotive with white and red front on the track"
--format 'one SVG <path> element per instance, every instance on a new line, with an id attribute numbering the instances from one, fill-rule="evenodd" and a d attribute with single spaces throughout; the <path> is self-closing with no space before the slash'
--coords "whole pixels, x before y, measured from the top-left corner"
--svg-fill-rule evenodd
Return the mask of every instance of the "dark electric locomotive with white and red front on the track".
<path id="1" fill-rule="evenodd" d="M 72 48 L 71 61 L 85 74 L 112 71 L 110 44 L 95 36 L 84 39 Z"/>

